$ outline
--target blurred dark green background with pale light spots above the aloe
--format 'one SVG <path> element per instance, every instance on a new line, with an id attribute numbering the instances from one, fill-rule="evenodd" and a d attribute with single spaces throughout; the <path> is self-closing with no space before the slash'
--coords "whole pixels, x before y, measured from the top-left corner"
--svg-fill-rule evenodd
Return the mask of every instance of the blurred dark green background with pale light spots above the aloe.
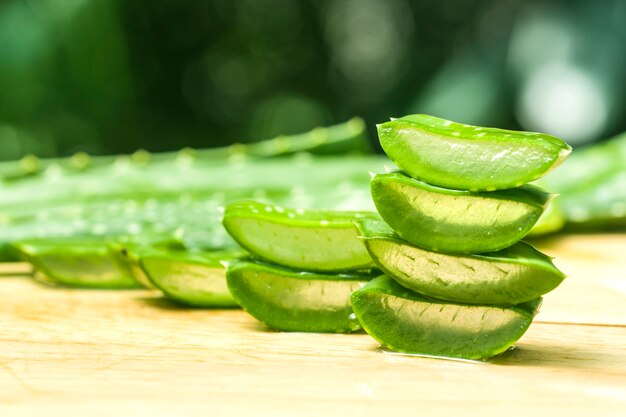
<path id="1" fill-rule="evenodd" d="M 0 159 L 417 112 L 578 146 L 625 80 L 625 0 L 0 0 Z"/>

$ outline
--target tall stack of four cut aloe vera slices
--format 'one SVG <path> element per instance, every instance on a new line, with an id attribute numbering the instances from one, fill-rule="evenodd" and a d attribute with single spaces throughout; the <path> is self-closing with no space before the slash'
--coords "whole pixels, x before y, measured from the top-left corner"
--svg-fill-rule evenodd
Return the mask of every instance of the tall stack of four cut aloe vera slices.
<path id="1" fill-rule="evenodd" d="M 505 351 L 529 327 L 541 296 L 564 279 L 551 258 L 520 239 L 552 198 L 527 183 L 571 148 L 549 135 L 427 115 L 383 123 L 378 132 L 403 172 L 371 181 L 386 224 L 360 227 L 385 275 L 352 295 L 357 318 L 400 352 L 484 359 Z"/>

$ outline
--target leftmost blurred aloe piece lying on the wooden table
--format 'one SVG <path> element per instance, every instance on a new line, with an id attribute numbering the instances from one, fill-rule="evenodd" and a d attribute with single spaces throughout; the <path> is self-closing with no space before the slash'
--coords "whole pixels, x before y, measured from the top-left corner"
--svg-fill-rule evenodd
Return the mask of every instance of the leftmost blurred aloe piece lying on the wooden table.
<path id="1" fill-rule="evenodd" d="M 37 277 L 52 285 L 80 288 L 139 288 L 111 254 L 106 241 L 93 239 L 23 241 L 15 248 Z"/>

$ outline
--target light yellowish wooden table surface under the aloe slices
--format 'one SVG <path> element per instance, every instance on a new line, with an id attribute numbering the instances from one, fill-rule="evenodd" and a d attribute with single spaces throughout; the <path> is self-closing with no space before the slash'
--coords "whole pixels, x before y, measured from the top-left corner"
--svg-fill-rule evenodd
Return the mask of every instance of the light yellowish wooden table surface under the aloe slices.
<path id="1" fill-rule="evenodd" d="M 4 265 L 0 415 L 626 415 L 626 235 L 540 247 L 569 278 L 490 362 L 272 332 L 150 291 L 49 288 Z"/>

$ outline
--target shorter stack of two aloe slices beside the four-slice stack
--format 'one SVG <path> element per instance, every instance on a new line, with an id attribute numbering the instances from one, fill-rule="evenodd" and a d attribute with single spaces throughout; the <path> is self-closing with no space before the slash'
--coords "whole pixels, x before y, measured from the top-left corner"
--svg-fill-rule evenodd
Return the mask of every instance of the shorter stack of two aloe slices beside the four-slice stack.
<path id="1" fill-rule="evenodd" d="M 228 265 L 228 289 L 244 310 L 276 330 L 360 329 L 350 295 L 380 273 L 372 269 L 355 221 L 376 219 L 375 212 L 289 209 L 252 200 L 227 205 L 224 227 L 250 252 Z"/>

